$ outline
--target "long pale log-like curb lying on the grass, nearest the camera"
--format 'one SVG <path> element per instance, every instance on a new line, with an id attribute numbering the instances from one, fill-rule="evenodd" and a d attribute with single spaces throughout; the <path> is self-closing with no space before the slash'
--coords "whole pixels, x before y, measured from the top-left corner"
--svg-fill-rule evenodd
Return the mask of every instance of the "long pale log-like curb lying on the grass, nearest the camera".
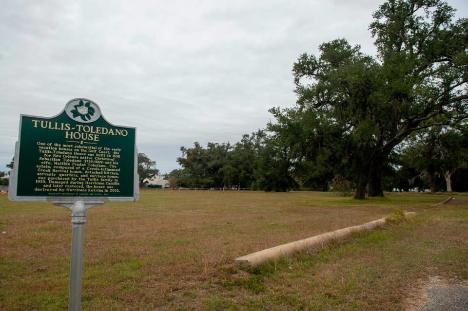
<path id="1" fill-rule="evenodd" d="M 416 215 L 416 213 L 414 212 L 405 213 L 405 217 L 411 217 L 414 215 Z M 376 227 L 385 224 L 385 220 L 386 217 L 378 220 L 373 220 L 362 225 L 338 229 L 322 233 L 311 238 L 305 238 L 302 240 L 267 248 L 262 251 L 235 258 L 234 264 L 241 267 L 254 267 L 273 258 L 277 258 L 280 256 L 291 256 L 292 254 L 301 250 L 321 248 L 324 243 L 329 242 L 331 240 L 340 240 L 343 238 L 347 238 L 353 232 L 375 229 Z"/>

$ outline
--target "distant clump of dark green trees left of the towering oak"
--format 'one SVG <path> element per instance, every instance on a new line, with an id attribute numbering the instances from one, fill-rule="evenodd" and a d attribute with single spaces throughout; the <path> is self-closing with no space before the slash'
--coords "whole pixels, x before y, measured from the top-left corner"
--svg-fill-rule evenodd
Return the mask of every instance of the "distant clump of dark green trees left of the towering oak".
<path id="1" fill-rule="evenodd" d="M 177 181 L 197 188 L 235 186 L 265 191 L 296 188 L 290 150 L 276 139 L 259 130 L 243 135 L 234 145 L 208 143 L 203 148 L 195 143 L 192 148 L 181 147 L 182 156 L 177 162 L 182 169 L 176 171 Z"/>

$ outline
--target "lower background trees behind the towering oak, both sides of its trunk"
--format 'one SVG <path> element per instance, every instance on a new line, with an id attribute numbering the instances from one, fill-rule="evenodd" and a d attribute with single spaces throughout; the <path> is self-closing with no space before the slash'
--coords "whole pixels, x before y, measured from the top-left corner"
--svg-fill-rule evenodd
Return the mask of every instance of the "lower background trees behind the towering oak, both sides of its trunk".
<path id="1" fill-rule="evenodd" d="M 409 191 L 468 191 L 467 129 L 434 127 L 404 140 L 383 167 L 382 188 Z M 343 183 L 356 187 L 356 177 L 341 154 L 320 148 L 313 161 L 293 159 L 287 147 L 259 130 L 240 142 L 195 143 L 182 147 L 182 166 L 165 174 L 169 186 L 188 188 L 249 188 L 264 191 L 328 191 Z M 341 179 L 341 184 L 334 184 Z M 455 180 L 454 180 L 455 179 Z M 453 184 L 453 186 L 452 186 Z M 335 189 L 336 190 L 336 189 Z"/>

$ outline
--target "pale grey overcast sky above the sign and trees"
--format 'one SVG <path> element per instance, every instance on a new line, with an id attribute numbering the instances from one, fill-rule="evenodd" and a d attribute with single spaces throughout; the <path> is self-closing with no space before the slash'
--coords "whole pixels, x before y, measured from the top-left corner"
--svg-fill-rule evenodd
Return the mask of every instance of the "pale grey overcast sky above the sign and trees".
<path id="1" fill-rule="evenodd" d="M 466 1 L 448 1 L 458 17 Z M 180 146 L 231 142 L 295 102 L 292 64 L 341 37 L 374 54 L 381 1 L 21 1 L 0 10 L 0 169 L 20 113 L 50 117 L 89 98 L 137 128 L 139 152 L 169 172 Z"/>

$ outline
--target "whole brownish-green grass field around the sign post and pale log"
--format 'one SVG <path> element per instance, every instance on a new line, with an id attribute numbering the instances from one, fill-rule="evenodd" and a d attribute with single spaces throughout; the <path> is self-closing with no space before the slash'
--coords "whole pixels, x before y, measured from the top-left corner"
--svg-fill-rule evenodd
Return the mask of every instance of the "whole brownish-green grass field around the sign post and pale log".
<path id="1" fill-rule="evenodd" d="M 429 276 L 468 279 L 468 195 L 142 191 L 87 213 L 83 310 L 405 310 Z M 322 250 L 238 270 L 235 257 L 418 212 Z M 65 310 L 70 211 L 0 196 L 0 310 Z"/>

